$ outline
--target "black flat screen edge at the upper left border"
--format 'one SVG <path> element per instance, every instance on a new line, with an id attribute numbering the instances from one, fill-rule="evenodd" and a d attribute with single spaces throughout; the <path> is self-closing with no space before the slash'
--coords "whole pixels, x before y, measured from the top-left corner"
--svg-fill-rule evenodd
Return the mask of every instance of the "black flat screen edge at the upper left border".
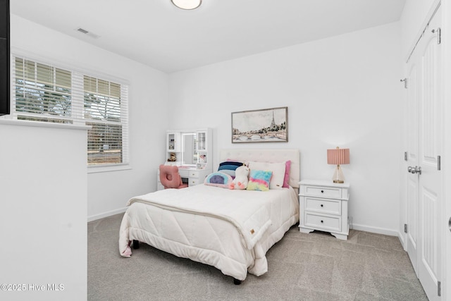
<path id="1" fill-rule="evenodd" d="M 0 0 L 0 115 L 10 113 L 9 0 Z"/>

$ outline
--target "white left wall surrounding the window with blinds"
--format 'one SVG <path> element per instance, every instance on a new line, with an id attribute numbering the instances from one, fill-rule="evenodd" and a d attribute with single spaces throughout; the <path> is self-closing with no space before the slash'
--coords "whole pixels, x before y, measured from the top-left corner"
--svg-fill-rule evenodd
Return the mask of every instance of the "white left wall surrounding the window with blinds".
<path id="1" fill-rule="evenodd" d="M 156 190 L 156 168 L 164 160 L 168 128 L 168 75 L 36 23 L 11 16 L 11 47 L 50 63 L 127 80 L 131 169 L 89 173 L 87 216 L 114 214 L 134 196 Z"/>

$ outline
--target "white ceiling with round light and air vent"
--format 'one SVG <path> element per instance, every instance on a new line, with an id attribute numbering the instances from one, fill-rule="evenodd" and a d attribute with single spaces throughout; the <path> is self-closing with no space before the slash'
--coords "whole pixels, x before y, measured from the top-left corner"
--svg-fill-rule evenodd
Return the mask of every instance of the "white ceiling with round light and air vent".
<path id="1" fill-rule="evenodd" d="M 11 13 L 173 73 L 395 22 L 405 1 L 11 0 Z"/>

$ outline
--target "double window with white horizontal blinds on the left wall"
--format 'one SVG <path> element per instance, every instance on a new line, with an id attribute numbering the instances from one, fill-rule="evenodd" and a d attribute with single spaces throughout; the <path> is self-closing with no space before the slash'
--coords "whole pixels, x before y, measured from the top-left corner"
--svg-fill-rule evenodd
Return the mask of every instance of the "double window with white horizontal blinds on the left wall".
<path id="1" fill-rule="evenodd" d="M 88 166 L 128 163 L 128 87 L 16 57 L 13 116 L 91 126 Z"/>

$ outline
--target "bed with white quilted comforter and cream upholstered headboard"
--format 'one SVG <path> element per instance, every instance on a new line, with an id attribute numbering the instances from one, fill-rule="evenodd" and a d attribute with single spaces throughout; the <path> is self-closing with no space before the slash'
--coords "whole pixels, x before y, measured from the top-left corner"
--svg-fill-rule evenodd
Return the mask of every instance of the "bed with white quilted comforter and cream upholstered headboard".
<path id="1" fill-rule="evenodd" d="M 273 182 L 274 189 L 267 191 L 200 184 L 132 197 L 120 227 L 121 256 L 130 257 L 131 247 L 144 242 L 215 266 L 233 277 L 235 284 L 244 281 L 247 273 L 265 274 L 266 252 L 299 221 L 299 150 L 223 149 L 219 161 L 245 162 L 251 171 L 252 166 L 273 168 L 271 181 L 280 178 L 279 167 L 285 164 L 288 188 L 273 187 Z"/>

